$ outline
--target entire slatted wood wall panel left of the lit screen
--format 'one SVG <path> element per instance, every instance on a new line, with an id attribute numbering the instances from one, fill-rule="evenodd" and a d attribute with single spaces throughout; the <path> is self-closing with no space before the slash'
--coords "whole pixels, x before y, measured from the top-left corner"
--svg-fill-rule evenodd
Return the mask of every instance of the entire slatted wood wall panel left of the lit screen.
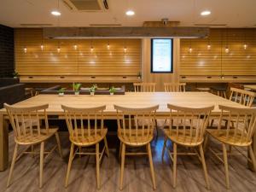
<path id="1" fill-rule="evenodd" d="M 15 29 L 15 69 L 20 75 L 137 76 L 141 71 L 141 39 L 57 40 L 42 38 L 42 32 L 42 29 Z M 73 47 L 75 44 L 77 49 Z"/>

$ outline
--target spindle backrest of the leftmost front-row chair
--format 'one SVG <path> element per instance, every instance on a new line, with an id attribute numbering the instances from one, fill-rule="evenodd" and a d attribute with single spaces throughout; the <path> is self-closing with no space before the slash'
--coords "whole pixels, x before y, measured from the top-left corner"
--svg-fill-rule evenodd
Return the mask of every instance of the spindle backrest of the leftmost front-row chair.
<path id="1" fill-rule="evenodd" d="M 3 106 L 9 114 L 9 120 L 15 131 L 15 138 L 18 141 L 27 137 L 40 136 L 43 122 L 46 134 L 49 133 L 46 113 L 46 109 L 49 107 L 48 104 L 27 108 L 15 108 L 6 103 Z"/>

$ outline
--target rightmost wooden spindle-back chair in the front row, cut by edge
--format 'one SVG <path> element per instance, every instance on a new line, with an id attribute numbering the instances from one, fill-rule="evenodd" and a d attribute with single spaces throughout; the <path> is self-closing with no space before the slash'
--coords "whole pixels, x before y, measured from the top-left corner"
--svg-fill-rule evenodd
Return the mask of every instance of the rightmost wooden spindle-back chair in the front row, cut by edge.
<path id="1" fill-rule="evenodd" d="M 226 187 L 227 189 L 230 189 L 226 146 L 248 148 L 251 157 L 251 160 L 249 161 L 253 163 L 253 168 L 256 171 L 256 160 L 252 148 L 252 137 L 256 129 L 256 109 L 230 108 L 222 105 L 218 106 L 218 108 L 221 110 L 218 129 L 207 129 L 207 133 L 215 140 L 222 143 L 224 160 L 222 160 L 212 148 L 210 148 L 210 150 L 216 155 L 218 160 L 221 160 L 224 163 Z M 235 123 L 233 121 L 234 119 L 236 119 Z M 227 126 L 222 126 L 223 121 L 228 122 Z"/>

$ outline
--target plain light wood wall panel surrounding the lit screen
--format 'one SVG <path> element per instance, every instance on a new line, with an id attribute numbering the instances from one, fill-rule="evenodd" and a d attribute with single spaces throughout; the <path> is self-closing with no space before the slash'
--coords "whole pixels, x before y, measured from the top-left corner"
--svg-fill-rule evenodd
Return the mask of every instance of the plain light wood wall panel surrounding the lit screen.
<path id="1" fill-rule="evenodd" d="M 155 91 L 164 91 L 164 83 L 175 83 L 179 79 L 179 39 L 173 42 L 173 73 L 151 73 L 151 40 L 143 38 L 143 82 L 156 83 Z"/>

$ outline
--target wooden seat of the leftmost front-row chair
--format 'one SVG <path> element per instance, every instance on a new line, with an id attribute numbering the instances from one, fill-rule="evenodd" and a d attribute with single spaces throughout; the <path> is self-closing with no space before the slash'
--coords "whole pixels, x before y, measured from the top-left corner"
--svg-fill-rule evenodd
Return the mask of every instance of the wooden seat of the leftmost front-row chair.
<path id="1" fill-rule="evenodd" d="M 26 136 L 22 136 L 20 138 L 15 137 L 15 142 L 20 145 L 30 145 L 30 144 L 37 144 L 42 143 L 45 140 L 49 139 L 49 137 L 52 137 L 55 135 L 55 132 L 59 130 L 59 127 L 53 127 L 49 128 L 49 132 L 46 133 L 46 129 L 40 130 L 40 135 L 38 135 L 38 132 L 36 129 L 33 129 L 33 135 L 30 134 L 29 130 L 26 131 Z"/>

